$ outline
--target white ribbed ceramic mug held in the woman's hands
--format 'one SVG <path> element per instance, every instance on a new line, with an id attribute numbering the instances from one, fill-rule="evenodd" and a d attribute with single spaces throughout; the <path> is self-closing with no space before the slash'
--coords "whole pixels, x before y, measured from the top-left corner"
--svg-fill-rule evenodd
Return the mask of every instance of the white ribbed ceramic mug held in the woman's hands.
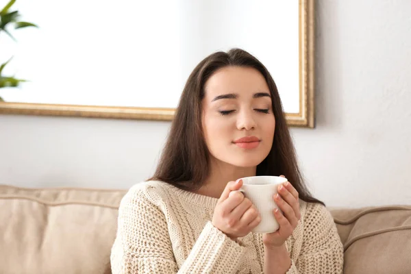
<path id="1" fill-rule="evenodd" d="M 278 207 L 273 195 L 277 193 L 278 185 L 284 184 L 288 180 L 278 176 L 252 176 L 241 179 L 242 187 L 236 191 L 241 191 L 256 206 L 261 215 L 261 222 L 254 227 L 252 232 L 276 232 L 279 229 L 279 224 L 275 219 L 273 210 Z"/>

